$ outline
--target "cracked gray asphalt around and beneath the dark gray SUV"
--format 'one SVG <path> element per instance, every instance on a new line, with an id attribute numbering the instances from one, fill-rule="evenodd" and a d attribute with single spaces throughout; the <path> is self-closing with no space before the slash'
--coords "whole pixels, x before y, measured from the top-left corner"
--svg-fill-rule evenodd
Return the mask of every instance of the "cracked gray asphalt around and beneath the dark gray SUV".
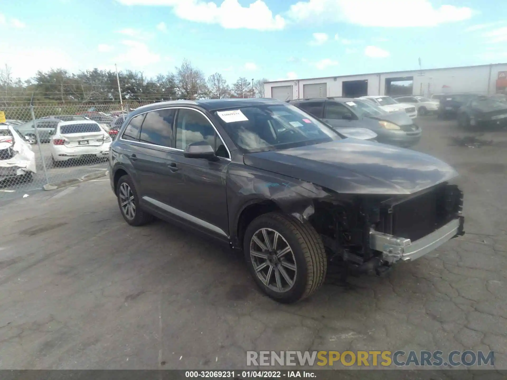
<path id="1" fill-rule="evenodd" d="M 507 133 L 449 146 L 462 135 L 453 122 L 418 122 L 415 148 L 461 174 L 467 234 L 296 305 L 262 295 L 227 247 L 162 221 L 128 226 L 107 180 L 13 200 L 0 208 L 0 368 L 227 369 L 245 368 L 246 350 L 469 349 L 493 350 L 507 369 Z"/>

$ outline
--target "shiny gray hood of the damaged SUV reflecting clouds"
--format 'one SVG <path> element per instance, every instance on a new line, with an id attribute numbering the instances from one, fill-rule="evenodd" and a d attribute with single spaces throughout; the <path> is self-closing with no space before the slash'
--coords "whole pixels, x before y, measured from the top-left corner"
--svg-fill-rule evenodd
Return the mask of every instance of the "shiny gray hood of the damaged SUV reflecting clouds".
<path id="1" fill-rule="evenodd" d="M 342 194 L 412 194 L 457 175 L 446 163 L 415 150 L 352 138 L 248 153 L 243 160 Z"/>

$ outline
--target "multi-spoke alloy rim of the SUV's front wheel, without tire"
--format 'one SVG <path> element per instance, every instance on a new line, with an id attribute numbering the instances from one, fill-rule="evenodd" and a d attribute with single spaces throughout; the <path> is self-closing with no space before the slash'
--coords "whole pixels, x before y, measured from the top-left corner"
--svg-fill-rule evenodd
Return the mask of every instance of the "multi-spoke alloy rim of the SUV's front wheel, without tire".
<path id="1" fill-rule="evenodd" d="M 257 277 L 271 290 L 282 293 L 294 286 L 296 258 L 291 246 L 277 231 L 262 228 L 253 234 L 250 259 Z"/>

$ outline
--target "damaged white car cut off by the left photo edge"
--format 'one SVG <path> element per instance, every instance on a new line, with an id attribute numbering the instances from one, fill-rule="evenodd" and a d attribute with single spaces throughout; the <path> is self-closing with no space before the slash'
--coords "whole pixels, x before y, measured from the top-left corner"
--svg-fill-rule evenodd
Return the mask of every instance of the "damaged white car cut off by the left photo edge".
<path id="1" fill-rule="evenodd" d="M 0 182 L 31 181 L 35 169 L 35 154 L 15 127 L 0 124 Z"/>

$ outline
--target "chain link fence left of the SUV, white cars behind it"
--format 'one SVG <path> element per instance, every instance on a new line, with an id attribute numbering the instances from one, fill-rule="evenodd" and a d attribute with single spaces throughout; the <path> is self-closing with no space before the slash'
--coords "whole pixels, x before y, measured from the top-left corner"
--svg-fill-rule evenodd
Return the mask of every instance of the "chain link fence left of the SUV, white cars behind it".
<path id="1" fill-rule="evenodd" d="M 105 172 L 128 112 L 148 103 L 0 109 L 0 198 Z M 3 119 L 3 118 L 2 118 Z"/>

